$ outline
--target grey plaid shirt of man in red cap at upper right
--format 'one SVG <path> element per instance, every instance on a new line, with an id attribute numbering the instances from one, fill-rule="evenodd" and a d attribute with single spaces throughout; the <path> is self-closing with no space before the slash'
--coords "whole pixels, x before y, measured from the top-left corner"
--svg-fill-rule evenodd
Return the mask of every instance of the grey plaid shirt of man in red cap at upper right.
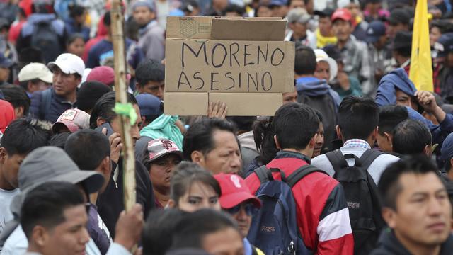
<path id="1" fill-rule="evenodd" d="M 343 70 L 352 77 L 357 78 L 362 84 L 363 94 L 372 94 L 373 88 L 370 83 L 372 67 L 370 65 L 368 47 L 365 42 L 355 39 L 350 35 L 345 47 L 341 49 L 343 56 Z"/>

